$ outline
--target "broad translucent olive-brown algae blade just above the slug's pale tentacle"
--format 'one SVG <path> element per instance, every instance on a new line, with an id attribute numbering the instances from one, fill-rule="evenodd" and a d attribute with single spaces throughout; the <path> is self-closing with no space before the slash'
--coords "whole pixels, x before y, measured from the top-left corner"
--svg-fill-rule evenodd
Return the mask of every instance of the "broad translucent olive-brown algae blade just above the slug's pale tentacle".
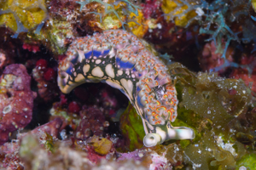
<path id="1" fill-rule="evenodd" d="M 245 83 L 218 77 L 213 73 L 199 72 L 196 75 L 177 63 L 168 67 L 171 74 L 177 77 L 178 106 L 183 108 L 178 116 L 187 112 L 184 117 L 189 117 L 186 121 L 192 127 L 198 127 L 202 121 L 211 122 L 210 127 L 214 128 L 215 133 L 223 133 L 228 139 L 228 123 L 247 111 L 252 99 L 251 91 Z M 188 111 L 191 114 L 188 115 Z"/>

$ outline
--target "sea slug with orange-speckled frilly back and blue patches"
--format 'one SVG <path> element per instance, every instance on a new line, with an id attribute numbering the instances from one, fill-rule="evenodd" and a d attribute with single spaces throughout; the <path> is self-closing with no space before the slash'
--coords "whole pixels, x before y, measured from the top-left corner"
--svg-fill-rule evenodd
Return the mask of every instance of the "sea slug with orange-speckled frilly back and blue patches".
<path id="1" fill-rule="evenodd" d="M 178 102 L 172 77 L 133 34 L 111 30 L 77 37 L 59 64 L 58 85 L 68 94 L 84 82 L 106 82 L 130 99 L 143 120 L 145 146 L 195 138 L 189 127 L 172 127 Z"/>

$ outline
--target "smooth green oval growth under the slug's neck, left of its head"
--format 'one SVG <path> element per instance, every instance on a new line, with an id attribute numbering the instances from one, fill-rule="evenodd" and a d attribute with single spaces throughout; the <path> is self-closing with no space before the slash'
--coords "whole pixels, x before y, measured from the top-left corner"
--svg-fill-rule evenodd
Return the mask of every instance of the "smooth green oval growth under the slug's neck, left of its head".
<path id="1" fill-rule="evenodd" d="M 143 121 L 131 103 L 120 116 L 120 129 L 125 138 L 126 150 L 133 151 L 143 147 L 145 136 Z"/>

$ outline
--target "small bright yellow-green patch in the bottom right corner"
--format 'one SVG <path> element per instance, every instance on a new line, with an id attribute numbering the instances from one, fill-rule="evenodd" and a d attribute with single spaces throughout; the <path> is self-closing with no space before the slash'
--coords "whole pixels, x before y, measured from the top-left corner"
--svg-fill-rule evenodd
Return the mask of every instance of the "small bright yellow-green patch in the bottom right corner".
<path id="1" fill-rule="evenodd" d="M 247 170 L 255 170 L 256 169 L 256 154 L 250 154 L 247 156 L 243 156 L 241 160 L 236 162 L 236 170 L 239 170 L 241 166 L 247 167 Z"/>

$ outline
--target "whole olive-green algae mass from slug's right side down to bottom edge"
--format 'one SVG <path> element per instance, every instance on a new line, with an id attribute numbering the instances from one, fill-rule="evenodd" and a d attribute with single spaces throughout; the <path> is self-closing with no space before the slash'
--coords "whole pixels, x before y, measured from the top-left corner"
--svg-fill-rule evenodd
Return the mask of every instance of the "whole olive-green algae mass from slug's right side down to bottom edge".
<path id="1" fill-rule="evenodd" d="M 250 133 L 256 130 L 251 90 L 241 80 L 213 73 L 195 74 L 178 63 L 168 68 L 176 77 L 179 100 L 177 120 L 172 125 L 195 130 L 195 139 L 190 144 L 179 142 L 185 154 L 183 163 L 205 170 L 235 169 L 242 156 L 253 153 L 253 148 L 244 147 L 255 142 L 255 135 Z"/>

